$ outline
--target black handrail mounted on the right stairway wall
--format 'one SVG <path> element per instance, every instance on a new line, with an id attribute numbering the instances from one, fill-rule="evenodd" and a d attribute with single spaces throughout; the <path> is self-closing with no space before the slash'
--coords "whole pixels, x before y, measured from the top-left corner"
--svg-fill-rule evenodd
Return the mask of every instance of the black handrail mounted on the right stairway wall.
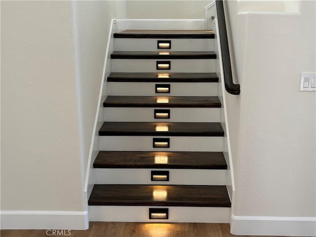
<path id="1" fill-rule="evenodd" d="M 234 84 L 233 82 L 232 65 L 231 65 L 231 57 L 229 54 L 223 0 L 216 0 L 216 10 L 217 10 L 217 18 L 218 18 L 217 22 L 218 22 L 218 28 L 219 28 L 218 34 L 220 36 L 221 51 L 222 51 L 225 88 L 228 93 L 233 94 L 233 95 L 239 95 L 240 84 Z"/>

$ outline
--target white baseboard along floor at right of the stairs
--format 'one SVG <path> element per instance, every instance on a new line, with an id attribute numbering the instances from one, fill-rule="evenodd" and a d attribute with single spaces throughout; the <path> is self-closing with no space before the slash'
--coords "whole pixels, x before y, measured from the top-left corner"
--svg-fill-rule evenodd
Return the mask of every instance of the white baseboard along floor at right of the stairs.
<path id="1" fill-rule="evenodd" d="M 251 236 L 316 236 L 316 217 L 232 215 L 231 233 Z"/>

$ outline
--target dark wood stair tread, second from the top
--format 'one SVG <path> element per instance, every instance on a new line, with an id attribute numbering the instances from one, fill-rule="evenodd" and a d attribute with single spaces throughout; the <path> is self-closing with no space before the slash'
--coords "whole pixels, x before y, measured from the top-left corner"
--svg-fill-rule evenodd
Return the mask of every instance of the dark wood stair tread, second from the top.
<path id="1" fill-rule="evenodd" d="M 159 51 L 114 51 L 112 59 L 215 59 L 213 51 L 168 51 L 161 54 Z"/>

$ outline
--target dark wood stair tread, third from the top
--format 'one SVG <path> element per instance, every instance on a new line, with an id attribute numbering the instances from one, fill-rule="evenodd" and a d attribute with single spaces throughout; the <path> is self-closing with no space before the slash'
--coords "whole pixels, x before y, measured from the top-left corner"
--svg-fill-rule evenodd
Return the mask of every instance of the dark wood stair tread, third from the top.
<path id="1" fill-rule="evenodd" d="M 115 82 L 218 82 L 216 73 L 111 73 Z"/>

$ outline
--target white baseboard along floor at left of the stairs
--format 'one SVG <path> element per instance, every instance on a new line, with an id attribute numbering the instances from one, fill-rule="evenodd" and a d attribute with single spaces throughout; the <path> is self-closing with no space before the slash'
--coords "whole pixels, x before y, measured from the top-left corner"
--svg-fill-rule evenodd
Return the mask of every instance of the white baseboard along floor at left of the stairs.
<path id="1" fill-rule="evenodd" d="M 87 230 L 87 211 L 1 211 L 1 230 Z"/>

